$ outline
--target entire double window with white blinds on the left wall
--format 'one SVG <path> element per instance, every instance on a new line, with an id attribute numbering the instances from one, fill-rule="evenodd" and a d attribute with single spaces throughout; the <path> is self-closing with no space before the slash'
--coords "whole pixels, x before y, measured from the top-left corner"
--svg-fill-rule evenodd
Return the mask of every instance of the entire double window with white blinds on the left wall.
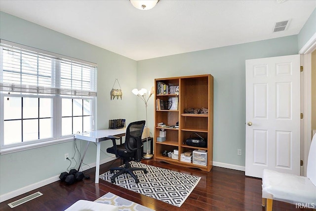
<path id="1" fill-rule="evenodd" d="M 0 149 L 94 129 L 95 64 L 0 42 Z"/>

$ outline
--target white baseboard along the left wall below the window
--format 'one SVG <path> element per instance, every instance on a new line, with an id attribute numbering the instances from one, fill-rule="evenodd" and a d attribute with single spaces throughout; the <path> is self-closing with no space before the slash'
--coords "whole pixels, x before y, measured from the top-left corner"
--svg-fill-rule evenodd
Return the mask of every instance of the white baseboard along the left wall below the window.
<path id="1" fill-rule="evenodd" d="M 109 158 L 106 158 L 106 159 L 103 159 L 102 161 L 100 161 L 100 164 L 104 164 L 104 163 L 113 161 L 113 160 L 115 160 L 115 159 L 117 159 L 117 158 L 115 158 L 115 157 L 109 157 Z M 91 168 L 93 168 L 93 167 L 96 166 L 96 163 L 89 164 L 89 166 L 90 166 Z M 87 169 L 89 169 L 89 167 L 88 167 L 88 166 L 83 166 L 82 169 L 83 169 L 83 170 L 87 170 Z M 48 185 L 48 184 L 50 184 L 50 183 L 56 182 L 56 181 L 58 181 L 58 180 L 59 180 L 59 174 L 56 175 L 56 176 L 50 177 L 50 178 L 48 178 L 48 179 L 44 179 L 44 180 L 42 180 L 42 181 L 40 181 L 40 182 L 33 183 L 33 184 L 28 185 L 28 186 L 25 186 L 25 187 L 23 187 L 23 188 L 20 188 L 20 189 L 11 191 L 11 192 L 9 192 L 9 193 L 2 194 L 2 195 L 0 195 L 0 203 L 1 203 L 1 202 L 4 202 L 4 201 L 6 201 L 6 200 L 12 199 L 12 198 L 14 198 L 14 197 L 20 196 L 20 195 L 22 195 L 22 194 L 24 194 L 24 193 L 27 193 L 27 192 L 29 192 L 29 191 L 33 191 L 33 190 L 35 190 L 35 189 L 37 189 L 37 188 L 40 188 L 40 187 L 42 187 L 42 186 L 45 186 L 45 185 Z"/>

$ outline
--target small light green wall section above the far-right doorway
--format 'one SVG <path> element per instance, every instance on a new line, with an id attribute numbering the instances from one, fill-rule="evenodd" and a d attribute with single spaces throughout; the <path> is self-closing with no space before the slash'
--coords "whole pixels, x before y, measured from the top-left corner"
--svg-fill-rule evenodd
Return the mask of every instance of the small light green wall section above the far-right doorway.
<path id="1" fill-rule="evenodd" d="M 312 12 L 309 19 L 304 24 L 300 33 L 298 34 L 298 50 L 300 50 L 306 42 L 316 33 L 316 9 Z"/>

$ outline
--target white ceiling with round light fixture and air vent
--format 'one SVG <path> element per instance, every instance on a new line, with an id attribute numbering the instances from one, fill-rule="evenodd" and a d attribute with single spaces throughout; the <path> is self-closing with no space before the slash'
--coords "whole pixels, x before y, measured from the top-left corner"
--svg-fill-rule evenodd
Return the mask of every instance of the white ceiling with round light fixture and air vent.
<path id="1" fill-rule="evenodd" d="M 0 10 L 134 60 L 297 35 L 316 0 L 0 0 Z M 273 33 L 276 22 L 289 20 Z"/>

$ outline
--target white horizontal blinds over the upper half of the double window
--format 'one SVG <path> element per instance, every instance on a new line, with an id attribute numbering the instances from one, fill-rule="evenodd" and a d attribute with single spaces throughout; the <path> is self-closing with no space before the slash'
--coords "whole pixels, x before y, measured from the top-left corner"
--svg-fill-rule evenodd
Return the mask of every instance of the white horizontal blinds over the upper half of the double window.
<path id="1" fill-rule="evenodd" d="M 96 96 L 96 65 L 0 43 L 0 91 Z"/>

